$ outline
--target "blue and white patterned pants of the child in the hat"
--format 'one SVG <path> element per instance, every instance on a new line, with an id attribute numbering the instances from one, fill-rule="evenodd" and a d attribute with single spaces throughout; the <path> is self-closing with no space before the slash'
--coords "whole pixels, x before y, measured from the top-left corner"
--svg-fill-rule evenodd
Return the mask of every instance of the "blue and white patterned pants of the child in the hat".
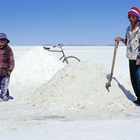
<path id="1" fill-rule="evenodd" d="M 10 82 L 9 76 L 0 77 L 0 97 L 1 98 L 7 95 L 9 82 Z"/>

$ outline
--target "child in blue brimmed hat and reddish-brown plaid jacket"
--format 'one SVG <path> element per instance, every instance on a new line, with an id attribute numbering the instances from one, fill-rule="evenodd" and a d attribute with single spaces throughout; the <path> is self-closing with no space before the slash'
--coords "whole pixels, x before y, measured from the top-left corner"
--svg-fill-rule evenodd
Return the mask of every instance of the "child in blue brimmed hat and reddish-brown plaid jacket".
<path id="1" fill-rule="evenodd" d="M 0 100 L 9 99 L 10 75 L 14 69 L 14 55 L 12 49 L 8 46 L 10 41 L 5 33 L 0 33 Z"/>

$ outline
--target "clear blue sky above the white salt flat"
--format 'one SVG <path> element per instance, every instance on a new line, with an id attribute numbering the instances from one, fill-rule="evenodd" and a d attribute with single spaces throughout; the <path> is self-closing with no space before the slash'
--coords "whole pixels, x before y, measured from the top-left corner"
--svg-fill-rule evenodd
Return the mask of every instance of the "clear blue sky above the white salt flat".
<path id="1" fill-rule="evenodd" d="M 0 32 L 11 45 L 109 45 L 132 6 L 140 0 L 0 0 Z"/>

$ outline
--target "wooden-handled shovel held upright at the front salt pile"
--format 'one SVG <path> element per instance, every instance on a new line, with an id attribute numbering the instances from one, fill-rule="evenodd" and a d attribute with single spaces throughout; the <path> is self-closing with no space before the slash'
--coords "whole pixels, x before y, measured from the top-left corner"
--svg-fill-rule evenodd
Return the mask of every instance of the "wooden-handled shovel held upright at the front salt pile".
<path id="1" fill-rule="evenodd" d="M 111 81 L 112 81 L 112 78 L 113 78 L 113 72 L 114 72 L 114 66 L 115 66 L 115 59 L 116 59 L 116 53 L 117 53 L 118 44 L 119 43 L 117 41 L 115 41 L 111 73 L 106 76 L 107 79 L 108 79 L 108 82 L 106 83 L 105 87 L 108 90 L 108 92 L 109 92 L 109 87 L 111 87 Z"/>

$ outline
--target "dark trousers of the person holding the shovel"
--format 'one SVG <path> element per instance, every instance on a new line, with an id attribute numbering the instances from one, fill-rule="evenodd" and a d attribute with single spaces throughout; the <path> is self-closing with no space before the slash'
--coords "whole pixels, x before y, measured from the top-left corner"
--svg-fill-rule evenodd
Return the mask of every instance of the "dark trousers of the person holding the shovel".
<path id="1" fill-rule="evenodd" d="M 130 79 L 136 97 L 140 99 L 140 66 L 136 60 L 129 60 Z"/>

